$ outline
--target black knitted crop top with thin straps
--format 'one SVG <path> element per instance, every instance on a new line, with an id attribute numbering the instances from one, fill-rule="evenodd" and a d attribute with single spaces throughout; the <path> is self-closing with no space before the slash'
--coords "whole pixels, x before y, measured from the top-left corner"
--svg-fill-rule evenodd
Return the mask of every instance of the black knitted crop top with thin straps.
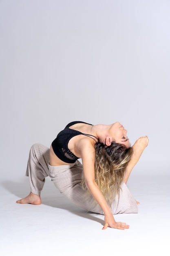
<path id="1" fill-rule="evenodd" d="M 70 126 L 72 126 L 74 124 L 79 124 L 79 123 L 88 124 L 88 123 L 85 123 L 85 122 L 82 122 L 82 121 L 74 121 L 74 122 L 69 123 L 64 128 L 64 130 L 59 132 L 56 139 L 53 140 L 53 142 L 51 144 L 55 155 L 57 155 L 57 157 L 60 158 L 62 161 L 66 162 L 66 163 L 69 163 L 69 164 L 75 163 L 75 161 L 77 159 L 79 159 L 79 157 L 76 157 L 68 149 L 69 140 L 71 138 L 77 136 L 77 135 L 85 135 L 85 136 L 91 137 L 92 139 L 94 139 L 93 137 L 95 137 L 93 135 L 82 133 L 82 132 L 79 132 L 77 130 L 73 130 L 73 129 L 69 128 Z M 92 125 L 92 124 L 89 124 L 89 125 Z M 97 137 L 95 137 L 95 138 L 97 139 Z"/>

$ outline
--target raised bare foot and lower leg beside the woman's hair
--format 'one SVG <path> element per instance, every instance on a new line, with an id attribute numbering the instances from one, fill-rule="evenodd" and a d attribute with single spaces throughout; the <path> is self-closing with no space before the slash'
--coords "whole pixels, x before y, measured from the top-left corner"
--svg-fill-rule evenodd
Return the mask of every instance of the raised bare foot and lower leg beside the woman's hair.
<path id="1" fill-rule="evenodd" d="M 126 171 L 126 175 L 124 177 L 124 182 L 127 183 L 128 181 L 128 177 L 133 169 L 133 167 L 137 164 L 137 162 L 139 161 L 139 158 L 141 157 L 141 154 L 143 153 L 144 149 L 146 148 L 146 146 L 148 146 L 148 137 L 140 137 L 139 139 L 137 139 L 137 141 L 135 142 L 135 144 L 132 146 L 133 148 L 133 154 L 132 157 L 130 159 L 130 162 L 128 163 L 127 166 L 127 171 Z"/>

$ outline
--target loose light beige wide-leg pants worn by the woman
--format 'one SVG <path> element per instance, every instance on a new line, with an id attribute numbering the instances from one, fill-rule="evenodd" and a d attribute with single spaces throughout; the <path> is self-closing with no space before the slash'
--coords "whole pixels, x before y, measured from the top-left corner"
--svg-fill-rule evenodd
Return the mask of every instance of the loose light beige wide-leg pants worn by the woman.
<path id="1" fill-rule="evenodd" d="M 99 204 L 94 202 L 93 196 L 86 193 L 80 184 L 82 181 L 82 164 L 77 160 L 74 164 L 51 166 L 49 156 L 50 149 L 46 146 L 34 144 L 31 147 L 26 169 L 31 192 L 40 195 L 45 177 L 49 176 L 60 193 L 75 204 L 87 211 L 104 214 Z M 125 183 L 122 183 L 119 193 L 119 198 L 117 196 L 111 204 L 112 213 L 137 213 L 137 203 Z"/>

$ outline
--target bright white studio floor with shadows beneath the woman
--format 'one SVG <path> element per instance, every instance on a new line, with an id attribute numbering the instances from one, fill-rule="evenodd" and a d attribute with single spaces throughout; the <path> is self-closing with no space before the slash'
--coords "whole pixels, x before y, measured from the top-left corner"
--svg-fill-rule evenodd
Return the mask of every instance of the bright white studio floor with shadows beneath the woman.
<path id="1" fill-rule="evenodd" d="M 1 186 L 0 254 L 170 256 L 170 175 L 132 175 L 128 187 L 139 213 L 119 214 L 130 229 L 102 230 L 104 216 L 86 213 L 61 195 L 49 178 L 42 204 L 16 204 L 29 193 L 27 177 Z"/>

